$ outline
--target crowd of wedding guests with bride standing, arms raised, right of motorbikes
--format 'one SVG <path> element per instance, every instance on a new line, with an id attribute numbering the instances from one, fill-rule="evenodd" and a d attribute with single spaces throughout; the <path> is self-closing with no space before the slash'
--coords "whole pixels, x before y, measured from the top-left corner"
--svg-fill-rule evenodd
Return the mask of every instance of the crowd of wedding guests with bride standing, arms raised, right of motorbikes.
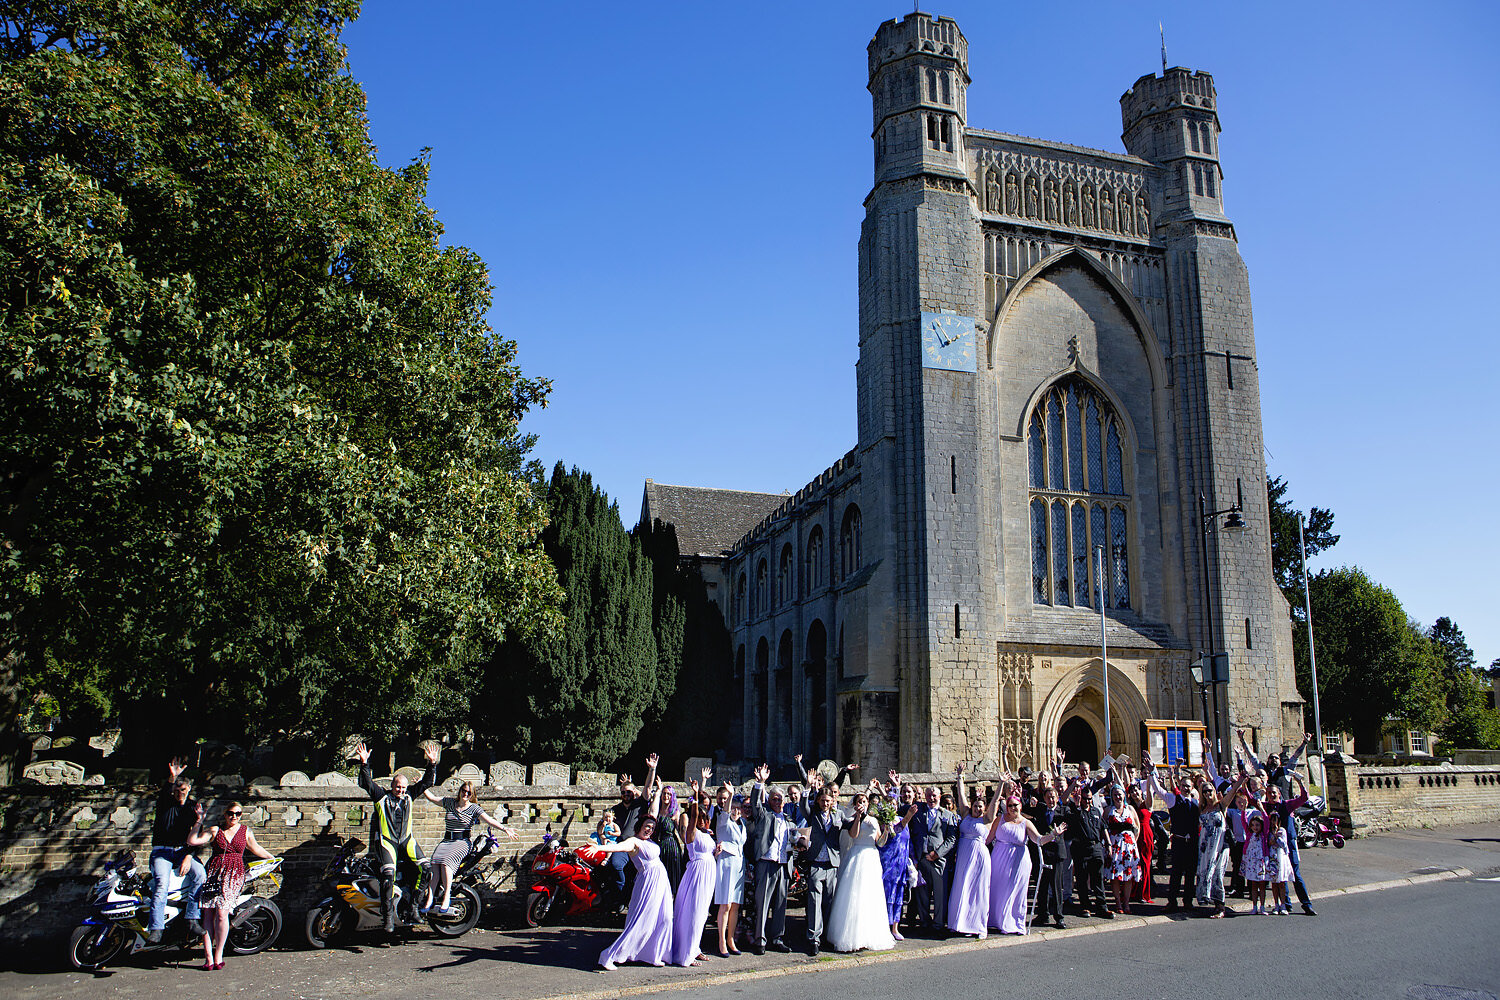
<path id="1" fill-rule="evenodd" d="M 750 949 L 790 952 L 786 904 L 806 886 L 806 951 L 896 948 L 902 924 L 920 933 L 986 937 L 1026 934 L 1034 921 L 1065 927 L 1064 907 L 1113 918 L 1152 903 L 1154 862 L 1170 859 L 1166 912 L 1197 904 L 1208 916 L 1232 910 L 1228 895 L 1251 900 L 1251 915 L 1290 913 L 1288 886 L 1316 915 L 1302 883 L 1294 810 L 1308 801 L 1293 771 L 1306 747 L 1264 765 L 1239 733 L 1233 780 L 1203 753 L 1203 772 L 1149 756 L 1140 774 L 1128 757 L 1094 772 L 1053 768 L 1005 772 L 994 787 L 970 787 L 963 765 L 951 787 L 918 786 L 894 771 L 888 781 L 850 786 L 856 765 L 825 780 L 802 768 L 801 781 L 770 784 L 754 769 L 747 796 L 712 771 L 688 783 L 680 805 L 657 777 L 656 754 L 638 790 L 621 775 L 621 802 L 604 816 L 594 844 L 578 853 L 608 864 L 621 889 L 630 882 L 626 928 L 598 957 L 621 963 L 693 966 L 705 958 L 704 928 L 717 907 L 717 952 L 738 955 L 741 909 L 748 907 Z M 1292 784 L 1299 789 L 1292 796 Z M 1166 828 L 1152 807 L 1166 804 Z M 1160 844 L 1166 834 L 1167 843 Z M 630 868 L 627 870 L 627 865 Z M 750 888 L 747 888 L 750 886 Z"/>

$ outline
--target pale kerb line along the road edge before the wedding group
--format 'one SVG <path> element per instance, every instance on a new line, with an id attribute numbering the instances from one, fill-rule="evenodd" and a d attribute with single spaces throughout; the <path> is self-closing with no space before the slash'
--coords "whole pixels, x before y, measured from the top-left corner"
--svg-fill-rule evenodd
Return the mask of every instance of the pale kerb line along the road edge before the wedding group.
<path id="1" fill-rule="evenodd" d="M 1452 879 L 1470 879 L 1474 873 L 1468 868 L 1449 868 L 1444 871 L 1424 873 L 1419 876 L 1407 876 L 1404 879 L 1388 879 L 1384 882 L 1366 882 L 1358 886 L 1344 886 L 1341 889 L 1323 889 L 1320 892 L 1310 894 L 1312 900 L 1330 900 L 1346 895 L 1358 895 L 1360 892 L 1380 892 L 1383 889 L 1404 889 L 1407 886 L 1419 886 L 1428 882 L 1448 882 Z M 1058 940 L 1065 937 L 1088 937 L 1090 934 L 1107 934 L 1110 931 L 1122 931 L 1134 927 L 1150 927 L 1154 924 L 1174 924 L 1178 921 L 1188 919 L 1184 916 L 1167 916 L 1164 913 L 1156 913 L 1150 916 L 1124 916 L 1114 918 L 1107 924 L 1089 924 L 1084 927 L 1068 927 L 1064 930 L 1058 928 L 1038 928 L 1026 937 L 992 934 L 981 940 L 966 939 L 956 942 L 944 942 L 942 945 L 932 945 L 924 948 L 912 948 L 906 951 L 894 952 L 860 952 L 855 955 L 837 955 L 828 954 L 820 957 L 818 961 L 800 961 L 792 966 L 771 966 L 768 969 L 746 969 L 744 972 L 730 973 L 711 973 L 706 976 L 684 978 L 675 982 L 652 982 L 640 984 L 638 987 L 616 987 L 610 990 L 590 990 L 585 993 L 558 993 L 548 994 L 543 997 L 536 997 L 536 1000 L 614 1000 L 614 997 L 640 997 L 651 993 L 670 993 L 675 990 L 698 990 L 704 987 L 728 987 L 736 982 L 747 982 L 752 979 L 776 979 L 782 976 L 801 976 L 807 973 L 824 972 L 825 969 L 860 969 L 866 966 L 885 966 L 888 963 L 909 961 L 914 958 L 940 958 L 944 955 L 963 955 L 968 952 L 990 951 L 996 948 L 1012 948 L 1017 945 L 1028 945 L 1035 942 Z"/>

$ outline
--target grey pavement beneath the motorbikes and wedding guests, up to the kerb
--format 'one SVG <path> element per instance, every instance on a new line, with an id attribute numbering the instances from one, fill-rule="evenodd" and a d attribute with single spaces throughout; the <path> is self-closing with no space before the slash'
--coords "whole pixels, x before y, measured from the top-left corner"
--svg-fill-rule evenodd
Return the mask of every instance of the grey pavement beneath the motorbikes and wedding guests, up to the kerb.
<path id="1" fill-rule="evenodd" d="M 1311 849 L 1302 852 L 1302 873 L 1322 916 L 1298 913 L 1290 921 L 1269 921 L 1290 925 L 1302 933 L 1317 931 L 1317 937 L 1336 937 L 1336 927 L 1328 910 L 1358 910 L 1356 897 L 1383 889 L 1430 889 L 1430 883 L 1500 873 L 1500 823 L 1443 826 L 1434 829 L 1392 831 L 1350 840 L 1342 850 Z M 1161 882 L 1161 880 L 1158 880 Z M 1478 883 L 1476 883 L 1478 885 Z M 1500 883 L 1486 900 L 1500 900 Z M 1244 910 L 1245 904 L 1232 904 Z M 651 969 L 626 966 L 608 975 L 594 972 L 600 951 L 608 946 L 616 927 L 549 927 L 537 930 L 507 930 L 482 927 L 458 940 L 438 940 L 417 934 L 396 945 L 378 945 L 375 937 L 357 939 L 344 949 L 310 951 L 297 946 L 300 928 L 288 925 L 284 946 L 231 958 L 222 972 L 206 973 L 194 969 L 201 958 L 183 955 L 182 963 L 164 961 L 160 955 L 135 957 L 99 973 L 80 973 L 66 963 L 63 946 L 57 954 L 33 952 L 9 957 L 15 969 L 0 972 L 0 997 L 46 997 L 74 1000 L 111 997 L 285 997 L 286 1000 L 324 1000 L 381 994 L 387 1000 L 428 997 L 436 991 L 484 994 L 507 1000 L 543 997 L 573 997 L 604 1000 L 606 997 L 639 996 L 686 988 L 723 988 L 746 991 L 764 979 L 786 979 L 792 991 L 812 990 L 806 973 L 824 970 L 866 970 L 868 975 L 904 975 L 912 960 L 966 961 L 975 952 L 1017 948 L 1006 955 L 1062 955 L 1071 952 L 1071 939 L 1128 934 L 1140 931 L 1158 942 L 1173 942 L 1179 936 L 1198 937 L 1221 934 L 1206 928 L 1258 928 L 1268 921 L 1227 924 L 1204 921 L 1182 913 L 1167 916 L 1161 903 L 1137 906 L 1138 913 L 1104 919 L 1068 918 L 1066 930 L 1038 928 L 1028 937 L 992 936 L 982 942 L 969 939 L 924 940 L 908 939 L 892 952 L 861 952 L 834 955 L 824 952 L 818 960 L 796 952 L 766 954 L 740 958 L 710 958 L 693 969 Z M 1500 909 L 1500 907 L 1497 907 Z M 1238 918 L 1236 918 L 1238 919 Z M 1494 927 L 1494 919 L 1486 918 Z M 1256 931 L 1257 936 L 1263 931 Z M 788 919 L 788 943 L 802 939 L 798 912 Z M 1110 939 L 1113 940 L 1113 939 Z M 1077 942 L 1090 951 L 1095 943 Z M 1012 960 L 1006 958 L 1006 964 Z M 876 970 L 874 967 L 882 967 Z M 1222 970 L 1220 970 L 1222 972 Z M 789 978 L 789 979 L 788 979 Z M 1500 976 L 1497 976 L 1500 982 Z M 771 988 L 776 988 L 774 985 Z M 986 993 L 988 993 L 986 990 Z M 1354 994 L 1359 996 L 1359 994 Z M 1365 994 L 1370 996 L 1370 994 Z M 1386 994 L 1389 996 L 1389 994 Z"/>

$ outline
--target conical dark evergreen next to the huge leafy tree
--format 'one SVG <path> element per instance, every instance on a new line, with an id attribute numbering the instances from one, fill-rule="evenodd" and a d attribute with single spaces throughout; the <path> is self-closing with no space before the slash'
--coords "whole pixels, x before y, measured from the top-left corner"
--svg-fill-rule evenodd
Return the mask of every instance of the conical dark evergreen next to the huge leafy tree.
<path id="1" fill-rule="evenodd" d="M 651 564 L 586 472 L 560 462 L 546 505 L 542 541 L 566 592 L 564 627 L 501 643 L 474 729 L 500 757 L 608 768 L 670 696 L 652 630 Z"/>

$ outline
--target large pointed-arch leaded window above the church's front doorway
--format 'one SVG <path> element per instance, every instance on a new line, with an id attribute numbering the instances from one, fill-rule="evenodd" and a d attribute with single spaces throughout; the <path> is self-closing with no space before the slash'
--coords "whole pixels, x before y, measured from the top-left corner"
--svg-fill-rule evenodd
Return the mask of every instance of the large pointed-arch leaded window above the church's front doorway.
<path id="1" fill-rule="evenodd" d="M 1124 441 L 1114 408 L 1077 375 L 1036 402 L 1026 424 L 1034 603 L 1098 610 L 1102 583 L 1106 607 L 1131 606 Z"/>

